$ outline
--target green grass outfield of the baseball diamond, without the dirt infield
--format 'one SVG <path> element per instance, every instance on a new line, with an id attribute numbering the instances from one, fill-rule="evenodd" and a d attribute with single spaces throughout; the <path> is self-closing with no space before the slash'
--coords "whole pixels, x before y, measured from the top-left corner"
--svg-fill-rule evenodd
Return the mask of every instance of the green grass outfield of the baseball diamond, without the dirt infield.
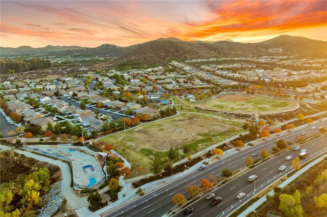
<path id="1" fill-rule="evenodd" d="M 205 106 L 222 108 L 233 111 L 271 111 L 287 108 L 291 105 L 289 101 L 282 99 L 268 99 L 263 97 L 255 97 L 248 101 L 228 101 L 213 99 L 204 103 Z"/>

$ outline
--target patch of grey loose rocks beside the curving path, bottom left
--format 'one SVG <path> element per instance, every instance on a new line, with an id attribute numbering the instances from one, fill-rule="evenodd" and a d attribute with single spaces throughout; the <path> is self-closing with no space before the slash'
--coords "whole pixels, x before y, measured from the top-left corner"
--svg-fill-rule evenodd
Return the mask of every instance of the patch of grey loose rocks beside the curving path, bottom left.
<path id="1" fill-rule="evenodd" d="M 62 195 L 62 181 L 58 181 L 51 185 L 50 191 L 40 198 L 40 202 L 43 202 L 43 207 L 39 209 L 41 213 L 38 217 L 48 217 L 55 213 L 58 207 L 61 205 L 64 197 Z"/>

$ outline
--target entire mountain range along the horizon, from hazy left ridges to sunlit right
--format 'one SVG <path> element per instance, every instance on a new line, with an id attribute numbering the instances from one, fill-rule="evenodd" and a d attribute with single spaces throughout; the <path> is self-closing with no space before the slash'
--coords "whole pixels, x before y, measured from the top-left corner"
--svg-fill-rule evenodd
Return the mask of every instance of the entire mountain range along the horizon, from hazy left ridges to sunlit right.
<path id="1" fill-rule="evenodd" d="M 280 48 L 283 53 L 268 53 L 268 49 Z M 289 55 L 298 58 L 326 58 L 327 42 L 305 37 L 281 35 L 257 42 L 241 43 L 230 39 L 222 41 L 183 41 L 178 38 L 158 38 L 128 47 L 103 44 L 96 48 L 78 46 L 46 46 L 44 48 L 1 47 L 1 55 L 51 54 L 51 55 L 97 55 L 99 57 L 116 57 L 110 65 L 129 61 L 144 64 L 165 63 L 166 58 L 208 58 L 208 57 L 253 57 L 263 55 Z"/>

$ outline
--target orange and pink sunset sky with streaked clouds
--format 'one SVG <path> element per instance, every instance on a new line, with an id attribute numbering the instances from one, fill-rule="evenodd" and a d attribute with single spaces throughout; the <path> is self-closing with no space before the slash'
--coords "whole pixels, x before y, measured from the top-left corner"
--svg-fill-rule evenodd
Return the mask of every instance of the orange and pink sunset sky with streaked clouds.
<path id="1" fill-rule="evenodd" d="M 327 40 L 327 1 L 3 1 L 2 47 L 129 46 L 159 37 Z"/>

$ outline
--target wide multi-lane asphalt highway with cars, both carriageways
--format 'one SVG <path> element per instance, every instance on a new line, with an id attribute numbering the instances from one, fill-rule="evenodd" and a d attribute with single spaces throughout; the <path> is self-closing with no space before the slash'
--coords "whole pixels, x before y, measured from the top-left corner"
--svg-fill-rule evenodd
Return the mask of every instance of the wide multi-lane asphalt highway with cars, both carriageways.
<path id="1" fill-rule="evenodd" d="M 323 122 L 318 122 L 315 124 L 312 124 L 310 126 L 307 126 L 306 128 L 302 129 L 295 129 L 292 132 L 284 135 L 279 136 L 278 138 L 284 138 L 285 140 L 293 141 L 295 136 L 298 136 L 301 132 L 306 132 L 307 135 L 310 135 L 311 132 L 317 132 L 316 129 L 310 129 L 311 126 L 326 126 L 326 120 Z M 275 145 L 274 143 L 275 139 L 270 139 L 268 141 L 265 141 L 261 144 L 255 145 L 251 148 L 248 148 L 246 150 L 240 151 L 236 154 L 233 154 L 229 157 L 224 157 L 222 160 L 219 160 L 215 163 L 212 163 L 208 165 L 204 170 L 195 170 L 183 177 L 181 177 L 178 180 L 175 180 L 173 182 L 170 182 L 166 185 L 164 185 L 161 188 L 158 188 L 155 191 L 152 191 L 142 197 L 140 197 L 137 200 L 134 200 L 130 202 L 129 204 L 122 206 L 116 210 L 113 210 L 112 212 L 108 212 L 108 214 L 103 213 L 104 216 L 162 216 L 165 212 L 173 208 L 175 205 L 172 203 L 172 197 L 176 193 L 182 193 L 184 195 L 188 195 L 186 193 L 186 186 L 188 184 L 194 184 L 194 185 L 200 185 L 200 182 L 203 178 L 207 178 L 209 175 L 215 175 L 217 179 L 221 178 L 221 171 L 224 168 L 229 168 L 232 171 L 239 169 L 243 166 L 245 166 L 245 158 L 248 156 L 251 156 L 253 152 L 261 152 L 263 149 L 267 149 L 268 153 L 271 153 L 271 147 Z M 312 145 L 317 144 L 317 145 Z M 326 137 L 322 137 L 319 139 L 316 139 L 312 142 L 308 142 L 306 144 L 301 145 L 301 149 L 307 149 L 309 155 L 318 152 L 319 150 L 326 149 Z M 300 150 L 301 150 L 300 149 Z M 284 161 L 283 159 L 290 155 L 294 158 L 297 156 L 297 154 L 300 151 L 293 151 L 290 150 L 288 152 L 285 152 L 272 160 L 267 161 L 264 164 L 261 164 L 260 166 L 255 167 L 254 169 L 250 170 L 250 172 L 245 173 L 244 175 L 241 175 L 240 177 L 227 182 L 225 185 L 223 185 L 222 188 L 219 188 L 218 190 L 214 191 L 214 193 L 218 196 L 221 196 L 223 198 L 223 202 L 218 204 L 218 206 L 221 206 L 219 208 L 219 211 L 217 208 L 213 207 L 209 204 L 209 201 L 204 200 L 204 202 L 197 202 L 196 204 L 192 205 L 192 207 L 195 209 L 193 213 L 197 213 L 196 216 L 211 216 L 214 215 L 208 214 L 204 215 L 207 211 L 212 211 L 214 209 L 214 213 L 217 215 L 221 212 L 224 212 L 220 216 L 225 216 L 227 212 L 230 212 L 234 209 L 236 209 L 236 205 L 240 205 L 240 201 L 235 199 L 235 196 L 237 195 L 237 192 L 244 192 L 247 194 L 245 198 L 242 199 L 242 201 L 246 198 L 249 198 L 249 196 L 253 195 L 253 189 L 254 189 L 254 182 L 248 183 L 246 181 L 246 178 L 250 175 L 257 175 L 258 179 L 256 181 L 256 192 L 258 192 L 260 189 L 264 188 L 264 184 L 271 178 L 275 176 L 275 178 L 271 179 L 269 182 L 278 179 L 278 174 L 280 174 L 277 169 L 279 166 L 282 166 L 285 164 L 287 166 L 287 169 L 290 169 L 289 166 L 291 165 L 291 161 Z M 253 157 L 254 160 L 260 158 L 260 154 L 258 156 Z M 308 157 L 310 159 L 310 157 Z M 263 167 L 264 166 L 264 167 Z M 284 170 L 285 171 L 285 170 Z M 285 173 L 285 172 L 284 172 Z M 283 174 L 281 174 L 283 175 Z M 263 185 L 261 187 L 261 185 Z M 251 187 L 249 187 L 251 186 Z M 260 186 L 260 187 L 259 187 Z M 220 192 L 220 189 L 224 189 L 224 192 Z M 252 192 L 251 192 L 252 189 Z M 250 195 L 251 194 L 251 195 Z M 234 200 L 235 199 L 235 200 Z M 202 204 L 203 203 L 203 204 Z M 238 204 L 234 204 L 238 203 Z M 229 207 L 233 205 L 233 208 L 230 209 Z M 207 206 L 209 208 L 207 208 Z M 235 207 L 236 206 L 236 207 Z M 183 213 L 182 213 L 183 214 Z M 215 216 L 216 216 L 215 215 Z"/>

